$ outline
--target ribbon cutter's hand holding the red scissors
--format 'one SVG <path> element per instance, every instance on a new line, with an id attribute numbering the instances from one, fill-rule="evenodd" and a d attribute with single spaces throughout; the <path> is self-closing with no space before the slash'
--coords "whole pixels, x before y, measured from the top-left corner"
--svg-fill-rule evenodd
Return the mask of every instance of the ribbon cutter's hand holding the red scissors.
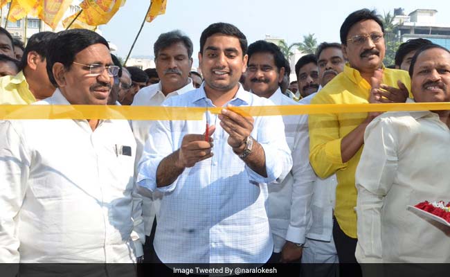
<path id="1" fill-rule="evenodd" d="M 215 126 L 210 126 L 209 141 L 205 141 L 205 134 L 186 134 L 181 141 L 175 166 L 177 168 L 192 168 L 195 163 L 213 157 L 213 138 L 211 138 L 211 135 L 214 131 Z"/>

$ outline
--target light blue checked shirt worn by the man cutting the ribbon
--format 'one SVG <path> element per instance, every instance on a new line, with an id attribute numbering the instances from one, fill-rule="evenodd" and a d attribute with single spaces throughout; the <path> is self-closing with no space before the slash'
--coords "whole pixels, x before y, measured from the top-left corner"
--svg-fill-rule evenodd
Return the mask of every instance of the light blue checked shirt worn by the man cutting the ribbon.
<path id="1" fill-rule="evenodd" d="M 273 105 L 242 87 L 226 105 Z M 170 107 L 213 107 L 204 87 L 163 103 Z M 226 106 L 224 105 L 224 106 Z M 154 249 L 164 263 L 264 263 L 273 241 L 267 218 L 267 184 L 285 176 L 292 166 L 281 116 L 255 118 L 251 136 L 266 157 L 267 177 L 251 170 L 233 153 L 228 134 L 216 114 L 213 157 L 186 168 L 164 193 Z M 186 134 L 203 134 L 204 120 L 156 121 L 139 163 L 138 184 L 156 190 L 156 170 L 161 160 L 178 150 Z"/>

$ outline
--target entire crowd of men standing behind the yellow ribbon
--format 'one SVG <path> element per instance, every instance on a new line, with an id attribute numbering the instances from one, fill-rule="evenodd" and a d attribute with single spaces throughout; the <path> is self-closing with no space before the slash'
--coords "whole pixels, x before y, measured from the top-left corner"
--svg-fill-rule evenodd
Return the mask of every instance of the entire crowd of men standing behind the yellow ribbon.
<path id="1" fill-rule="evenodd" d="M 300 276 L 450 262 L 450 229 L 406 209 L 450 200 L 450 111 L 236 109 L 450 101 L 446 48 L 412 39 L 391 69 L 367 9 L 340 37 L 300 57 L 289 82 L 280 48 L 248 45 L 232 24 L 201 33 L 201 72 L 179 30 L 143 71 L 89 30 L 23 48 L 0 28 L 0 105 L 222 107 L 203 120 L 2 120 L 0 262 L 295 262 Z"/>

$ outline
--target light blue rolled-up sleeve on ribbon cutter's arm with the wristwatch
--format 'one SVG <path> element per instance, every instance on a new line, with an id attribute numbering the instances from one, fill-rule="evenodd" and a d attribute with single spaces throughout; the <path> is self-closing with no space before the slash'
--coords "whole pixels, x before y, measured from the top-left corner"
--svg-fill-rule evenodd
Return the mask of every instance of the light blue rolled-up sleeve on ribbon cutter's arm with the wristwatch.
<path id="1" fill-rule="evenodd" d="M 257 126 L 257 141 L 264 150 L 267 177 L 246 166 L 250 181 L 270 184 L 281 182 L 292 168 L 291 150 L 286 143 L 285 124 L 281 116 L 262 116 Z"/>

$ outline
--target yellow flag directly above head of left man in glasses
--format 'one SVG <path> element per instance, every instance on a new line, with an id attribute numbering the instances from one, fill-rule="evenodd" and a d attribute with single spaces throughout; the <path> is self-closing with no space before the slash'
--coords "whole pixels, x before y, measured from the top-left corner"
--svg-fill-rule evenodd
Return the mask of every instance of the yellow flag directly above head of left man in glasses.
<path id="1" fill-rule="evenodd" d="M 124 4 L 125 0 L 84 0 L 80 3 L 82 12 L 73 22 L 71 28 L 84 28 L 87 26 L 94 26 L 95 28 L 95 26 L 107 24 Z M 62 21 L 62 25 L 64 27 L 68 26 L 77 15 L 78 13 L 67 17 Z"/>

